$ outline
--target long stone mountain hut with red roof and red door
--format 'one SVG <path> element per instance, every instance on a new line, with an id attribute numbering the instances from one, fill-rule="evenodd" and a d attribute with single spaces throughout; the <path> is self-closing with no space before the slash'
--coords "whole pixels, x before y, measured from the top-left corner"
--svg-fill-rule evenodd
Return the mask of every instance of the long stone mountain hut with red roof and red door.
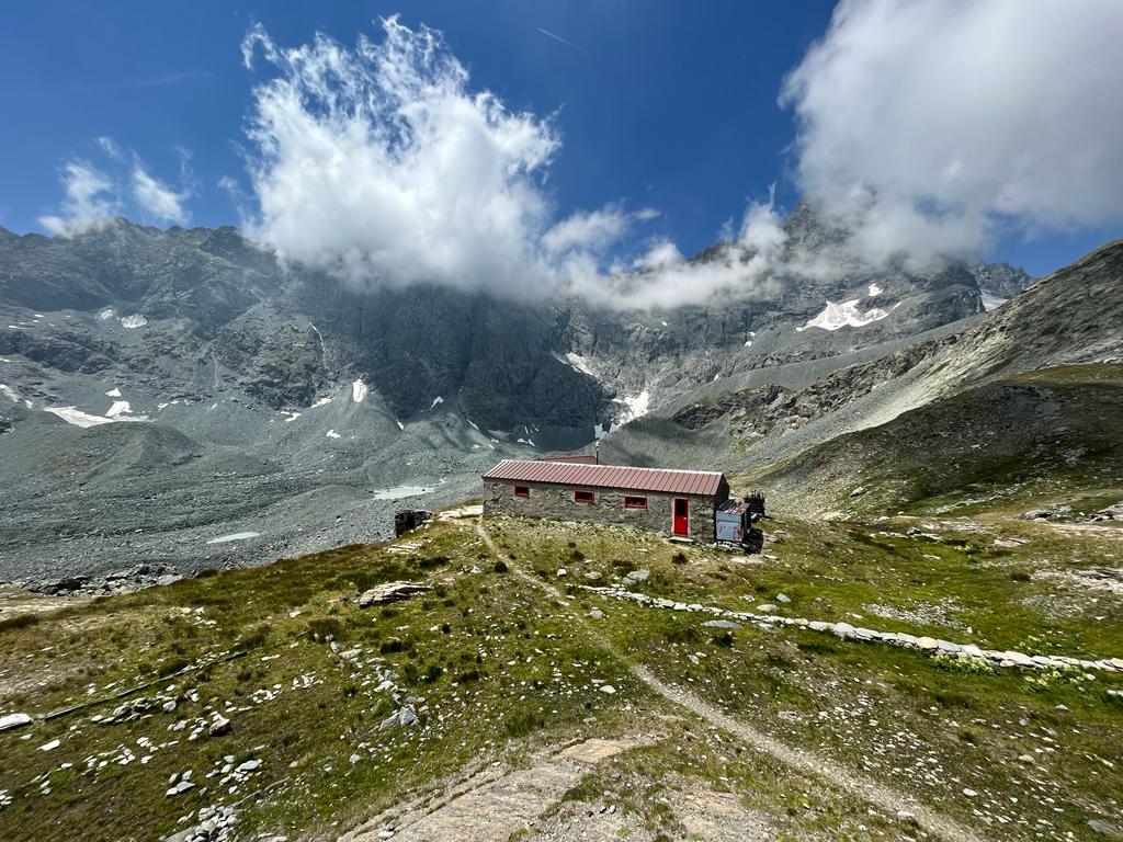
<path id="1" fill-rule="evenodd" d="M 621 523 L 695 541 L 714 540 L 714 513 L 729 500 L 724 475 L 712 470 L 504 459 L 483 481 L 484 514 Z"/>

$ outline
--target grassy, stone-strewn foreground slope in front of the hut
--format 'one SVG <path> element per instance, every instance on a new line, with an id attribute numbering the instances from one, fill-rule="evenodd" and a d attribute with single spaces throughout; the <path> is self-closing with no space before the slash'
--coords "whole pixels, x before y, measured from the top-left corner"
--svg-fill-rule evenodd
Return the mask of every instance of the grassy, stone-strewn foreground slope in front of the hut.
<path id="1" fill-rule="evenodd" d="M 1123 602 L 1086 576 L 1117 532 L 775 509 L 764 525 L 747 557 L 462 516 L 102 600 L 0 588 L 0 722 L 30 717 L 0 726 L 0 838 L 1015 842 L 1031 826 L 1065 842 L 1119 826 L 1123 672 L 1105 659 L 1123 653 Z M 392 580 L 431 589 L 363 607 Z"/>

